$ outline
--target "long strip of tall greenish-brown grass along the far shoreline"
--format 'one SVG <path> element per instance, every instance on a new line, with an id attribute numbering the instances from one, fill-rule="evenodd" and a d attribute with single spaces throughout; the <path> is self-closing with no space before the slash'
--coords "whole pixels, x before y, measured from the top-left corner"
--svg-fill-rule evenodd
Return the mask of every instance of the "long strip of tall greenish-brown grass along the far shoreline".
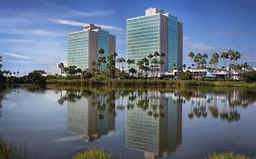
<path id="1" fill-rule="evenodd" d="M 253 87 L 256 83 L 246 83 L 241 81 L 200 81 L 200 80 L 163 80 L 163 79 L 51 79 L 46 84 L 69 85 L 69 86 L 111 86 L 111 87 L 205 87 L 205 86 L 235 86 L 235 87 Z"/>

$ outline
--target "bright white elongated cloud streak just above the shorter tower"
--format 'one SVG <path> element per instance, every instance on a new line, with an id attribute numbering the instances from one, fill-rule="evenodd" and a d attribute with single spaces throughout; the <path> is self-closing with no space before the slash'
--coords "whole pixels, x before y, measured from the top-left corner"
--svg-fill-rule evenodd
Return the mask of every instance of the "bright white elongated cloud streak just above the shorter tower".
<path id="1" fill-rule="evenodd" d="M 60 24 L 60 25 L 71 25 L 71 26 L 84 26 L 84 25 L 88 25 L 86 23 L 81 23 L 81 22 L 77 22 L 77 21 L 71 21 L 71 20 L 65 20 L 65 19 L 49 19 L 49 21 L 54 22 L 56 24 Z M 97 24 L 94 24 L 97 25 Z M 117 27 L 117 26 L 113 26 L 113 25 L 98 25 L 101 26 L 101 28 L 103 29 L 107 29 L 107 30 L 116 30 L 116 31 L 123 31 L 122 28 Z"/>

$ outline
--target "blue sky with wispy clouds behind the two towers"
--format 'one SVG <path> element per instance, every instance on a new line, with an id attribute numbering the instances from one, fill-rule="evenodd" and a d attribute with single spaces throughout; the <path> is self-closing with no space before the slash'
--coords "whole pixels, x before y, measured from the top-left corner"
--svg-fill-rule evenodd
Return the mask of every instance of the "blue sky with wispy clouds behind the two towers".
<path id="1" fill-rule="evenodd" d="M 126 19 L 157 7 L 183 23 L 183 61 L 188 54 L 211 55 L 233 49 L 240 63 L 256 65 L 255 0 L 0 0 L 2 69 L 27 74 L 58 73 L 67 65 L 67 34 L 84 24 L 117 35 L 118 56 L 126 57 Z M 220 59 L 220 65 L 222 61 Z"/>

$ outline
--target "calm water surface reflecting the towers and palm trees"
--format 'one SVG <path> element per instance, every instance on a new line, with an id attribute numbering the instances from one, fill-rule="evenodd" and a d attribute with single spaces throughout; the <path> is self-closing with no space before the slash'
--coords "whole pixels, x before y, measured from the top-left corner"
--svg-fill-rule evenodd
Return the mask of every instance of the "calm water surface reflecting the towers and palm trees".
<path id="1" fill-rule="evenodd" d="M 87 148 L 114 158 L 256 154 L 256 90 L 0 90 L 0 134 L 38 159 Z"/>

